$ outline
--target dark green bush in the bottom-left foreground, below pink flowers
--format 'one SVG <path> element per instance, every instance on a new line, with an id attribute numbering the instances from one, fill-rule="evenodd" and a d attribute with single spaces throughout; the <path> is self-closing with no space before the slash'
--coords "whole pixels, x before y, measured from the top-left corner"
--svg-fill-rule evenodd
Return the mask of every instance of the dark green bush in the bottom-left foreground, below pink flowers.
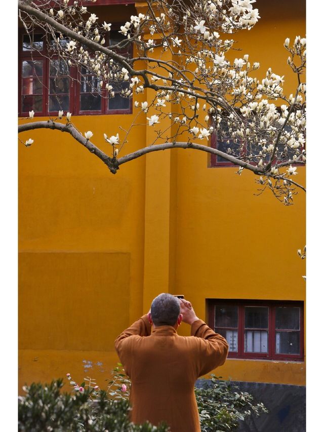
<path id="1" fill-rule="evenodd" d="M 99 391 L 92 401 L 93 388 L 75 394 L 60 390 L 63 380 L 51 384 L 32 383 L 25 386 L 25 397 L 19 397 L 18 430 L 28 432 L 167 432 L 166 425 L 146 422 L 134 425 L 129 420 L 130 405 L 126 400 L 111 400 L 106 391 Z"/>

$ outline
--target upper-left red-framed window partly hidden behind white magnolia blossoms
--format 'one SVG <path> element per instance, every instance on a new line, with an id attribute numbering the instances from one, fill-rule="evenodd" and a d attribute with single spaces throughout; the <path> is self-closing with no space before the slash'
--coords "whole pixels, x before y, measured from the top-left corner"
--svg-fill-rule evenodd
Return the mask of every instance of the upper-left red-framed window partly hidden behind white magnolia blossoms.
<path id="1" fill-rule="evenodd" d="M 46 34 L 20 34 L 19 51 L 19 102 L 20 116 L 57 115 L 59 110 L 72 114 L 119 114 L 131 113 L 132 101 L 120 92 L 129 83 L 109 83 L 115 96 L 107 98 L 105 85 L 85 67 L 69 67 L 63 58 L 51 52 L 52 41 Z M 109 45 L 118 43 L 123 36 L 118 30 L 110 31 Z M 50 42 L 50 44 L 48 44 Z M 60 40 L 65 47 L 67 40 Z M 127 55 L 127 49 L 118 51 Z"/>

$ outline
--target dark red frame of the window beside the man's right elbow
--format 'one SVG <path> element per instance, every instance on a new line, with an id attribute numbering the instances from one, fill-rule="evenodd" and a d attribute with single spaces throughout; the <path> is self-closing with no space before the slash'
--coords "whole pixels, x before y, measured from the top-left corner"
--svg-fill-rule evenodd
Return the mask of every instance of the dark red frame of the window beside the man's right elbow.
<path id="1" fill-rule="evenodd" d="M 303 301 L 281 301 L 281 300 L 239 300 L 239 299 L 207 299 L 208 306 L 208 325 L 215 329 L 215 306 L 230 305 L 238 308 L 238 351 L 228 352 L 229 359 L 251 359 L 251 360 L 278 360 L 278 361 L 304 361 L 304 302 Z M 245 333 L 245 307 L 265 306 L 268 307 L 268 352 L 245 352 L 244 333 Z M 292 306 L 300 308 L 300 340 L 299 354 L 276 354 L 275 352 L 275 307 Z M 281 329 L 281 331 L 284 329 Z"/>

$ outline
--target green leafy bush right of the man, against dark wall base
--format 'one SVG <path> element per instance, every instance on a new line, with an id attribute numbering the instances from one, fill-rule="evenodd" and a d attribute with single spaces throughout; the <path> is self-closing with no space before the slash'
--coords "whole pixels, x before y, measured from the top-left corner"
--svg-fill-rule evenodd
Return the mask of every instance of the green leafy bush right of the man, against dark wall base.
<path id="1" fill-rule="evenodd" d="M 228 432 L 238 428 L 239 420 L 251 414 L 268 412 L 262 403 L 255 403 L 247 392 L 238 392 L 230 381 L 211 380 L 195 388 L 201 432 Z"/>

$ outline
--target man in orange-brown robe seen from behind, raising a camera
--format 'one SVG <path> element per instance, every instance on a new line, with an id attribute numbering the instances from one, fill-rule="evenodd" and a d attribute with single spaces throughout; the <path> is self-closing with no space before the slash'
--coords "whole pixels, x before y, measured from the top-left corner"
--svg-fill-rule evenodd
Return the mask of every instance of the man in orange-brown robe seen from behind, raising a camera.
<path id="1" fill-rule="evenodd" d="M 181 322 L 191 326 L 191 336 L 177 334 Z M 147 315 L 117 337 L 115 348 L 132 381 L 135 424 L 165 422 L 171 432 L 200 432 L 194 384 L 225 362 L 228 344 L 196 317 L 189 301 L 158 295 Z"/>

